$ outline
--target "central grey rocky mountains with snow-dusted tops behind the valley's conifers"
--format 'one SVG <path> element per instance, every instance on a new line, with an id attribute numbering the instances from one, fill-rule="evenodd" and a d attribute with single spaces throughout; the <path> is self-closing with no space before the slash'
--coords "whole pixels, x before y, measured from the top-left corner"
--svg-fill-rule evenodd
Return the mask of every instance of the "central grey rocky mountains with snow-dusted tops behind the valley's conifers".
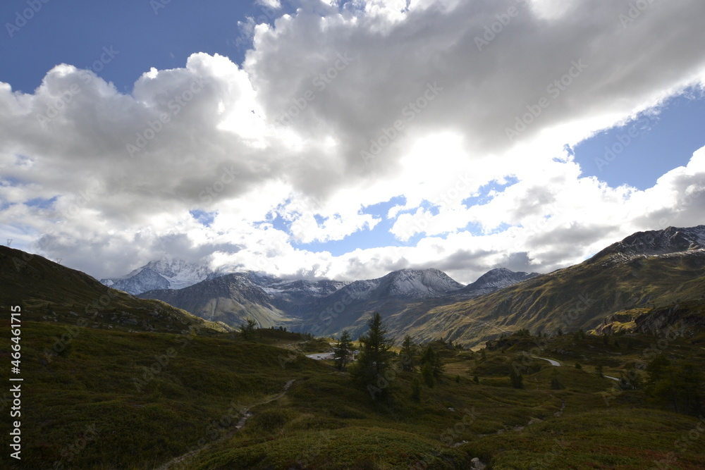
<path id="1" fill-rule="evenodd" d="M 447 297 L 462 284 L 437 269 L 403 269 L 372 280 L 281 280 L 258 273 L 233 273 L 180 290 L 151 290 L 140 297 L 159 299 L 211 321 L 238 326 L 247 317 L 260 326 L 288 326 L 314 334 L 337 332 L 377 309 L 386 314 L 407 302 Z M 321 318 L 342 309 L 336 321 Z M 329 316 L 325 313 L 324 316 Z M 323 323 L 326 323 L 325 328 Z"/>

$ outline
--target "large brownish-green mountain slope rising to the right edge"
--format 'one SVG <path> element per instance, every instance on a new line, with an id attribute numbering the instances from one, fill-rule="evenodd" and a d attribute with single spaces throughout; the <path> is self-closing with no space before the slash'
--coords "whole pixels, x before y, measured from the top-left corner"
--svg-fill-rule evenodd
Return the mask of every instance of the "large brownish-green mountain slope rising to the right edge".
<path id="1" fill-rule="evenodd" d="M 410 305 L 391 319 L 389 328 L 397 337 L 409 334 L 417 341 L 441 336 L 477 345 L 520 328 L 599 333 L 606 319 L 624 312 L 629 317 L 623 323 L 632 330 L 638 325 L 659 330 L 670 326 L 668 321 L 648 321 L 651 315 L 683 321 L 684 328 L 697 326 L 705 303 L 704 229 L 635 233 L 581 264 L 489 295 L 435 307 Z M 684 305 L 691 306 L 691 314 L 685 314 Z M 669 317 L 663 311 L 679 313 Z"/>

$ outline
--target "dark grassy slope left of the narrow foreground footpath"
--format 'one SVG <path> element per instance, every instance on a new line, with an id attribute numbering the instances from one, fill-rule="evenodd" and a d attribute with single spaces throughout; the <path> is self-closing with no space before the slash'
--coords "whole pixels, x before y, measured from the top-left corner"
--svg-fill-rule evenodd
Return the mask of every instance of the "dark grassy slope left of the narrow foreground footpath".
<path id="1" fill-rule="evenodd" d="M 2 327 L 9 329 L 6 319 Z M 24 445 L 22 465 L 12 468 L 47 469 L 62 462 L 67 469 L 152 469 L 230 431 L 242 409 L 275 395 L 286 381 L 325 369 L 300 354 L 228 333 L 204 337 L 72 326 L 68 347 L 46 354 L 67 328 L 22 323 Z M 9 362 L 8 337 L 0 344 Z M 8 420 L 2 424 L 4 432 Z M 7 454 L 3 459 L 10 463 Z"/>

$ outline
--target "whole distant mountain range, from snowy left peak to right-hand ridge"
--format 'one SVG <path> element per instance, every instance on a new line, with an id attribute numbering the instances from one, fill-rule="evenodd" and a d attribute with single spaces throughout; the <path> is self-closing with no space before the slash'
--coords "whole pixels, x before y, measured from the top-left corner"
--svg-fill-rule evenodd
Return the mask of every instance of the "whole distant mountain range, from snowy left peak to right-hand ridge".
<path id="1" fill-rule="evenodd" d="M 437 269 L 403 269 L 354 282 L 312 281 L 252 271 L 217 276 L 207 268 L 164 260 L 102 282 L 129 286 L 137 297 L 159 299 L 232 327 L 251 318 L 262 328 L 283 326 L 314 335 L 347 329 L 357 337 L 377 311 L 396 338 L 474 346 L 521 328 L 602 331 L 616 319 L 627 325 L 620 328 L 650 325 L 657 315 L 647 318 L 658 309 L 703 299 L 704 247 L 704 225 L 635 233 L 576 266 L 544 275 L 496 268 L 469 285 Z M 159 276 L 158 282 L 142 283 L 146 272 Z M 147 290 L 177 277 L 191 285 Z M 137 285 L 142 292 L 135 292 Z"/>

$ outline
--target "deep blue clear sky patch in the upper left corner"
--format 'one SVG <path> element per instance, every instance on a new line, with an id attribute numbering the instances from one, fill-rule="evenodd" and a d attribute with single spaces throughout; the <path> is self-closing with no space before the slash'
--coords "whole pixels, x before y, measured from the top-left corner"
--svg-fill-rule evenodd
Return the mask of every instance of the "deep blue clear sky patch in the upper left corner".
<path id="1" fill-rule="evenodd" d="M 152 67 L 183 67 L 194 52 L 221 54 L 240 63 L 249 39 L 240 34 L 238 21 L 245 22 L 247 16 L 267 22 L 274 18 L 270 8 L 246 1 L 156 2 L 161 7 L 149 0 L 77 0 L 70 5 L 49 1 L 9 37 L 6 23 L 17 23 L 17 13 L 28 6 L 26 1 L 4 1 L 0 58 L 17 66 L 3 67 L 0 80 L 31 92 L 57 64 L 91 69 L 103 47 L 114 47 L 118 60 L 98 75 L 130 92 L 142 73 Z"/>

